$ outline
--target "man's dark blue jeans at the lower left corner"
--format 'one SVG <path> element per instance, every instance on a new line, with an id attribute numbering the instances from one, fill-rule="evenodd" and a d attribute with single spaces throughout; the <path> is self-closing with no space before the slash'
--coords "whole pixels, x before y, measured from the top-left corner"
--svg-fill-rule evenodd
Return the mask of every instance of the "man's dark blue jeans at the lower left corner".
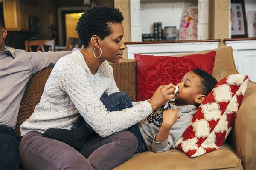
<path id="1" fill-rule="evenodd" d="M 0 125 L 0 170 L 18 170 L 20 140 L 15 133 L 4 125 Z"/>

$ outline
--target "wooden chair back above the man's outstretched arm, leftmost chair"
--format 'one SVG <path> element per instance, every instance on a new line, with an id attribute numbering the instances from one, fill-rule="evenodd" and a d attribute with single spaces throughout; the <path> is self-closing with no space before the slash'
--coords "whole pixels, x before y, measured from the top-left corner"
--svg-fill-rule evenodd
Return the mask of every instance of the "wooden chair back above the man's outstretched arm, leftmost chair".
<path id="1" fill-rule="evenodd" d="M 55 40 L 25 40 L 25 48 L 28 52 L 55 51 Z"/>

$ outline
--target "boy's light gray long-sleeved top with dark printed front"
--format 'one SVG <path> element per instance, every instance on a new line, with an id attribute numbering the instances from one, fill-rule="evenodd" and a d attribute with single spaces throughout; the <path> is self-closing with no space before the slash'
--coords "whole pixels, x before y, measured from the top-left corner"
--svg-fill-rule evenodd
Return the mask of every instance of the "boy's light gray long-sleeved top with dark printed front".
<path id="1" fill-rule="evenodd" d="M 148 150 L 153 150 L 153 152 L 165 152 L 171 148 L 175 148 L 175 143 L 182 136 L 198 109 L 194 105 L 176 106 L 171 103 L 168 103 L 168 105 L 168 108 L 180 109 L 177 115 L 180 115 L 181 118 L 177 119 L 173 124 L 166 141 L 155 142 L 155 137 L 163 122 L 163 106 L 155 110 L 145 120 L 139 122 L 139 129 L 143 140 Z"/>

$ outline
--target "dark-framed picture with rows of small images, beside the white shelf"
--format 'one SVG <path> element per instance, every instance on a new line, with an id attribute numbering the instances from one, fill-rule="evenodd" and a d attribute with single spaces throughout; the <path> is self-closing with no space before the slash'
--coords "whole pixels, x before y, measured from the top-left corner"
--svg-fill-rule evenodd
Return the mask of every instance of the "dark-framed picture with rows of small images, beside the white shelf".
<path id="1" fill-rule="evenodd" d="M 231 38 L 248 37 L 244 0 L 231 0 Z"/>

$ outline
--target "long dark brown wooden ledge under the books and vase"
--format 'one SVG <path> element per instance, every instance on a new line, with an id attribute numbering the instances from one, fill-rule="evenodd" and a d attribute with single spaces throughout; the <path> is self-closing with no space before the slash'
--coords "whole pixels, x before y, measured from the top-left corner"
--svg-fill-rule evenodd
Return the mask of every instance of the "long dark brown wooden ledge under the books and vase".
<path id="1" fill-rule="evenodd" d="M 125 45 L 132 44 L 165 44 L 165 43 L 193 43 L 193 42 L 220 42 L 220 39 L 214 40 L 178 40 L 178 41 L 143 41 L 143 42 L 125 42 Z"/>

